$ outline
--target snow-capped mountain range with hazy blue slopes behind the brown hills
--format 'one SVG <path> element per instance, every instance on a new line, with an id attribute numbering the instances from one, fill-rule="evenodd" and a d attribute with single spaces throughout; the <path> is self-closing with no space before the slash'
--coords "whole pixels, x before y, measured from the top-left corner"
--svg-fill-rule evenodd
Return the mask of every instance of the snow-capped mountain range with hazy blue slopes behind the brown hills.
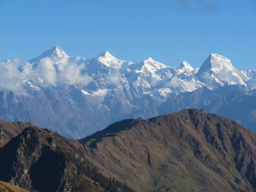
<path id="1" fill-rule="evenodd" d="M 186 61 L 178 67 L 152 58 L 132 63 L 107 51 L 88 59 L 70 57 L 54 45 L 19 67 L 6 60 L 0 69 L 1 119 L 31 122 L 73 138 L 125 118 L 160 115 L 166 102 L 176 102 L 176 110 L 194 106 L 183 100 L 199 89 L 206 89 L 194 97 L 200 106 L 213 103 L 221 95 L 215 90 L 224 85 L 243 86 L 243 94 L 256 95 L 256 71 L 239 71 L 217 54 L 193 69 Z"/>

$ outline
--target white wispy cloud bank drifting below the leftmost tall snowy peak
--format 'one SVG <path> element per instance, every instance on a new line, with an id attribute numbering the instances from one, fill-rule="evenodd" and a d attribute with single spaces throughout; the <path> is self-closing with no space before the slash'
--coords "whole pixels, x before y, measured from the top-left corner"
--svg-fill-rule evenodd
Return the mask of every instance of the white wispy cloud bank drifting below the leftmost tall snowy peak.
<path id="1" fill-rule="evenodd" d="M 70 84 L 81 83 L 87 85 L 91 81 L 91 77 L 86 73 L 81 74 L 85 70 L 85 64 L 72 64 L 68 60 L 63 64 L 64 67 L 57 67 L 56 63 L 59 58 L 45 57 L 40 60 L 35 70 L 32 70 L 30 63 L 25 62 L 19 66 L 20 59 L 12 59 L 11 62 L 0 63 L 0 91 L 9 90 L 14 94 L 22 94 L 25 91 L 25 81 L 32 80 L 35 83 L 40 83 L 39 78 L 50 85 L 57 86 L 69 82 Z M 114 77 L 113 77 L 114 81 Z"/>

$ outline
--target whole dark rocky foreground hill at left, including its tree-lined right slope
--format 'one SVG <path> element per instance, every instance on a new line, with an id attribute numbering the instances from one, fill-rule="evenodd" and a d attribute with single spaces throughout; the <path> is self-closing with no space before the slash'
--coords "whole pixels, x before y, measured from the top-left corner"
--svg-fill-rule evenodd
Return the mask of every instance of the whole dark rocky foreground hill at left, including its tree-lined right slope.
<path id="1" fill-rule="evenodd" d="M 134 192 L 114 177 L 104 177 L 78 144 L 57 132 L 27 127 L 0 151 L 0 181 L 32 192 Z"/>

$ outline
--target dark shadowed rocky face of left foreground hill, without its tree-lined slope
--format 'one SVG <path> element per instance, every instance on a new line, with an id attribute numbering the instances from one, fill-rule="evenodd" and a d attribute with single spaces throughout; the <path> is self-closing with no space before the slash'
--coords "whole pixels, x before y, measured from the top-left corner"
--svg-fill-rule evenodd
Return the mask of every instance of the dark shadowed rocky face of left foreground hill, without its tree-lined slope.
<path id="1" fill-rule="evenodd" d="M 28 191 L 67 192 L 81 183 L 88 183 L 92 191 L 103 191 L 65 158 L 65 153 L 83 161 L 81 155 L 49 130 L 28 127 L 1 150 L 0 180 Z"/>

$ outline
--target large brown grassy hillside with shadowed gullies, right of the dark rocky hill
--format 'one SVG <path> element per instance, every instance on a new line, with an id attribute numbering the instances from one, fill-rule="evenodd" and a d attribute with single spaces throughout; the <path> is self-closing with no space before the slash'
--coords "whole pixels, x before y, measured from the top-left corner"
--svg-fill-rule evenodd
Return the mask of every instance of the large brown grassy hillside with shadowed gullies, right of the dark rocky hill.
<path id="1" fill-rule="evenodd" d="M 123 120 L 80 142 L 136 191 L 256 191 L 256 134 L 202 110 Z"/>

